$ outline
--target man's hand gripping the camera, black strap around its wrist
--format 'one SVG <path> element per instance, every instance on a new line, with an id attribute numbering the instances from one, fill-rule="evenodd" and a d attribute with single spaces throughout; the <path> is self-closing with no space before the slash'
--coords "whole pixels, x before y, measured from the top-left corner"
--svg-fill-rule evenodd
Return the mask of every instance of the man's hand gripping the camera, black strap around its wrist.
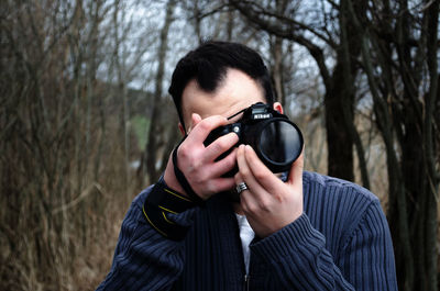
<path id="1" fill-rule="evenodd" d="M 226 125 L 228 120 L 220 115 L 201 120 L 200 115 L 196 113 L 191 117 L 193 130 L 177 150 L 178 167 L 184 172 L 193 190 L 201 199 L 206 200 L 217 192 L 234 187 L 233 178 L 222 178 L 221 176 L 235 166 L 237 149 L 232 150 L 226 158 L 218 161 L 215 160 L 237 144 L 239 137 L 234 133 L 229 133 L 205 147 L 204 142 L 209 133 L 221 125 Z M 169 156 L 164 179 L 168 187 L 186 194 L 174 175 L 172 156 Z"/>

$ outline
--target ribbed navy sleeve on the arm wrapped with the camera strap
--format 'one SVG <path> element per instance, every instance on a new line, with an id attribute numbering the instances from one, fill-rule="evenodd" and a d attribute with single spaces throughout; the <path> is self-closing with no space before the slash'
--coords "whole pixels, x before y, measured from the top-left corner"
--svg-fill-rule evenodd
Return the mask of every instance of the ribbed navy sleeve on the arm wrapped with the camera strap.
<path id="1" fill-rule="evenodd" d="M 152 187 L 132 202 L 121 227 L 111 270 L 97 290 L 169 290 L 184 268 L 184 243 L 163 237 L 146 222 L 142 205 Z M 195 210 L 175 215 L 188 224 Z"/>

